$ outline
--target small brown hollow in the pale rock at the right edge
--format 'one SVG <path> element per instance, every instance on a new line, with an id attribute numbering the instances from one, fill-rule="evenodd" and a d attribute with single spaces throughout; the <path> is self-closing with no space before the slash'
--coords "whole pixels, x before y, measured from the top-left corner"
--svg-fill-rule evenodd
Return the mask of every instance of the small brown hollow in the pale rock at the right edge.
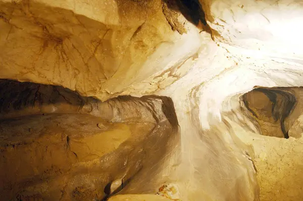
<path id="1" fill-rule="evenodd" d="M 258 87 L 244 94 L 242 101 L 258 123 L 262 135 L 300 138 L 303 131 L 302 95 L 301 87 Z"/>

